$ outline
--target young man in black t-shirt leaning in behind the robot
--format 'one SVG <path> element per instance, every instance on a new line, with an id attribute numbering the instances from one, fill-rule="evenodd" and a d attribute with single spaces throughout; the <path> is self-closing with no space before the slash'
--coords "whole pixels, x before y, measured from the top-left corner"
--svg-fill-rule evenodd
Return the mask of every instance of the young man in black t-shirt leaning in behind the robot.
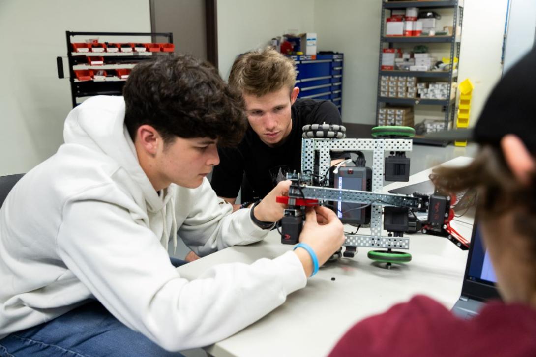
<path id="1" fill-rule="evenodd" d="M 264 197 L 287 172 L 300 171 L 304 125 L 342 124 L 332 102 L 298 99 L 295 83 L 294 61 L 273 49 L 251 51 L 235 60 L 229 85 L 242 93 L 249 127 L 236 149 L 218 150 L 220 164 L 211 184 L 221 198 L 234 204 L 243 181 L 242 206 Z"/>

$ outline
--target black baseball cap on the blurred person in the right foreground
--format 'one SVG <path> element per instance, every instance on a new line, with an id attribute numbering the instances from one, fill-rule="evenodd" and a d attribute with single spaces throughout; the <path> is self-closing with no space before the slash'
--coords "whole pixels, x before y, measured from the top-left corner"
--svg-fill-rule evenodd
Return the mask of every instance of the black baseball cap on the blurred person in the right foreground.
<path id="1" fill-rule="evenodd" d="M 498 146 L 515 134 L 536 154 L 536 48 L 520 59 L 495 85 L 472 129 L 426 134 L 426 139 L 471 141 Z"/>

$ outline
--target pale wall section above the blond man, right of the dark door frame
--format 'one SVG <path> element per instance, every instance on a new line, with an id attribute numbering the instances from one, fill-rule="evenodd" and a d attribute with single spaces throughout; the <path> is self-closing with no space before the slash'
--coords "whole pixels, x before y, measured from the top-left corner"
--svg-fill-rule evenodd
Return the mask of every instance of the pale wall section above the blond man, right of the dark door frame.
<path id="1" fill-rule="evenodd" d="M 237 55 L 264 47 L 273 37 L 316 32 L 313 0 L 222 0 L 218 2 L 218 66 L 224 79 Z"/>

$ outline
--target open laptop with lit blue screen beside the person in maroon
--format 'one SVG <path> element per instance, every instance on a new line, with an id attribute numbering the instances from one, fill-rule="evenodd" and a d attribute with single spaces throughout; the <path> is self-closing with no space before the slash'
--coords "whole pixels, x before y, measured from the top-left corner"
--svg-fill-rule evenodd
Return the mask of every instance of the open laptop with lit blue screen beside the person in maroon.
<path id="1" fill-rule="evenodd" d="M 496 282 L 497 278 L 489 253 L 482 244 L 480 229 L 475 221 L 467 255 L 464 283 L 461 286 L 460 298 L 452 308 L 452 313 L 465 319 L 477 315 L 487 300 L 500 298 L 495 286 Z"/>

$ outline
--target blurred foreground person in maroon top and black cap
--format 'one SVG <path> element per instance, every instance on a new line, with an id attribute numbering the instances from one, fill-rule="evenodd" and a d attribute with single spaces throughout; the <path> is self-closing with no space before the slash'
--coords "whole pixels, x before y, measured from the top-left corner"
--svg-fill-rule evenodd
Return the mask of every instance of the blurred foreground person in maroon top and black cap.
<path id="1" fill-rule="evenodd" d="M 438 168 L 446 192 L 477 187 L 483 240 L 503 302 L 461 320 L 419 295 L 355 324 L 330 356 L 536 356 L 536 50 L 494 88 L 465 168 Z M 459 134 L 459 133 L 458 133 Z"/>

